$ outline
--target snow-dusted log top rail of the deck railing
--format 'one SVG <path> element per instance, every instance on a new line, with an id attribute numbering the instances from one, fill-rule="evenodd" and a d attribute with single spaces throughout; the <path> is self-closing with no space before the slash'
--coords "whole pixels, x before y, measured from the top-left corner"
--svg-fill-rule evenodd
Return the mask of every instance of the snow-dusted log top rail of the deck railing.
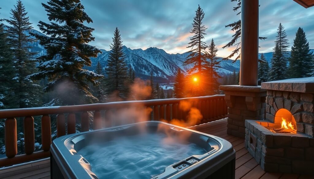
<path id="1" fill-rule="evenodd" d="M 202 96 L 202 97 L 95 103 L 95 104 L 85 104 L 85 105 L 76 105 L 76 106 L 53 106 L 53 107 L 39 107 L 39 108 L 4 109 L 4 110 L 0 110 L 0 119 L 26 117 L 26 116 L 40 116 L 40 115 L 49 115 L 49 114 L 58 114 L 58 113 L 78 113 L 78 112 L 83 112 L 83 111 L 99 111 L 99 110 L 115 109 L 115 108 L 116 109 L 127 108 L 127 107 L 130 107 L 131 104 L 143 105 L 143 106 L 154 106 L 154 105 L 179 103 L 182 100 L 216 99 L 216 98 L 221 98 L 224 96 L 225 95 L 213 95 L 213 96 Z"/>

